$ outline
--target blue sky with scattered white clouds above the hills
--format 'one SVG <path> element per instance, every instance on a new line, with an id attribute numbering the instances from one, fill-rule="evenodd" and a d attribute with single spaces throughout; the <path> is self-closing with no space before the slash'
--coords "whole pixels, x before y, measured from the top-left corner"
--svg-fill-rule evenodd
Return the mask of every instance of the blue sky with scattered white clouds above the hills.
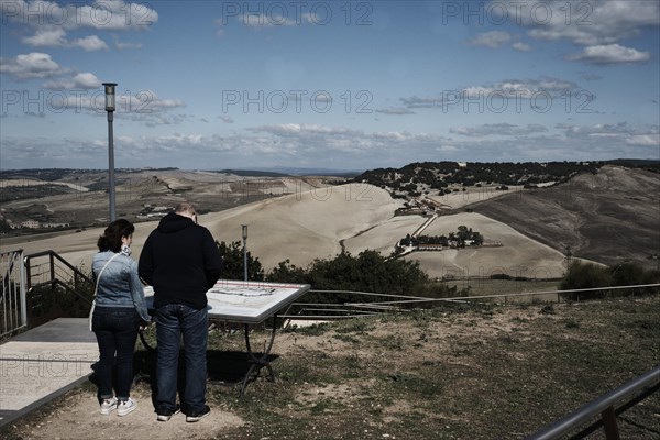
<path id="1" fill-rule="evenodd" d="M 660 1 L 1 0 L 0 168 L 660 158 Z"/>

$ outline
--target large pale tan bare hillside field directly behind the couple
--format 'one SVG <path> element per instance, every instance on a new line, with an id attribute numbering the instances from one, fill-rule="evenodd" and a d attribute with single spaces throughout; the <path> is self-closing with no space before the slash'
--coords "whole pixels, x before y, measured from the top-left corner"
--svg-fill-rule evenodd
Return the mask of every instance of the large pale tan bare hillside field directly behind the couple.
<path id="1" fill-rule="evenodd" d="M 248 224 L 249 250 L 258 256 L 266 270 L 271 270 L 286 258 L 297 265 L 307 265 L 317 257 L 334 256 L 341 251 L 341 240 L 388 221 L 402 204 L 371 185 L 316 188 L 305 180 L 292 185 L 295 187 L 289 188 L 288 195 L 262 197 L 252 204 L 201 215 L 199 222 L 209 228 L 216 240 L 226 242 L 241 241 L 241 226 Z M 196 195 L 191 199 L 200 197 Z M 180 196 L 178 199 L 184 200 Z M 210 209 L 206 202 L 197 206 L 201 211 Z M 146 237 L 156 226 L 157 220 L 136 224 L 134 255 L 140 254 Z M 101 233 L 102 228 L 91 228 L 43 240 L 38 237 L 7 238 L 2 239 L 0 250 L 23 249 L 26 253 L 54 250 L 72 264 L 89 267 Z"/>

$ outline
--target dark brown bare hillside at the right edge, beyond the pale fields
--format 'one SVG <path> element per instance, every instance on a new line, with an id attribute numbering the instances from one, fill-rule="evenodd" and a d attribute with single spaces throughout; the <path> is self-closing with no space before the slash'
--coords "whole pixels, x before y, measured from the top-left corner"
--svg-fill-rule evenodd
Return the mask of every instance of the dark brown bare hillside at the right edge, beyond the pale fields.
<path id="1" fill-rule="evenodd" d="M 566 184 L 471 206 L 560 252 L 608 265 L 630 260 L 657 268 L 660 253 L 660 176 L 605 166 Z"/>

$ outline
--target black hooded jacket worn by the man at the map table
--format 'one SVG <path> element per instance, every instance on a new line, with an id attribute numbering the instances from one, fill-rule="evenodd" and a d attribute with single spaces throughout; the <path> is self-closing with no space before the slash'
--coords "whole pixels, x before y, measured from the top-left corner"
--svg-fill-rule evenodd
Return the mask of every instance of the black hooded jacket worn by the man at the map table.
<path id="1" fill-rule="evenodd" d="M 154 288 L 154 308 L 176 302 L 199 310 L 207 306 L 206 293 L 220 278 L 222 264 L 211 232 L 170 212 L 146 239 L 139 273 Z"/>

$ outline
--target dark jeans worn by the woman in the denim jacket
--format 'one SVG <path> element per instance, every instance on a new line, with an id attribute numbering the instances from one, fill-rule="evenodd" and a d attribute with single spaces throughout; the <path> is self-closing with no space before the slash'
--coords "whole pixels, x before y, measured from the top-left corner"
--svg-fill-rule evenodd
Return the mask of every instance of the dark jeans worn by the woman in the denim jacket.
<path id="1" fill-rule="evenodd" d="M 131 396 L 133 352 L 139 328 L 140 316 L 132 307 L 95 308 L 91 329 L 99 343 L 99 400 L 112 398 L 113 388 L 120 400 L 127 400 Z"/>

